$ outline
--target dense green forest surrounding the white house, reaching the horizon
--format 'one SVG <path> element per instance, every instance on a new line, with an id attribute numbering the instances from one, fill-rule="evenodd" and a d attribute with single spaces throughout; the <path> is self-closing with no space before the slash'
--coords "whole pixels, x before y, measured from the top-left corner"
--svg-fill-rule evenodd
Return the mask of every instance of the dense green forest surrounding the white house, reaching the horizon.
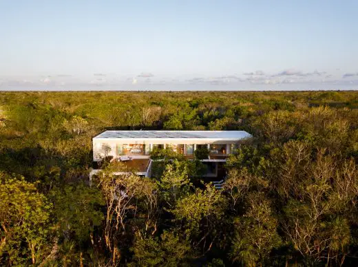
<path id="1" fill-rule="evenodd" d="M 254 138 L 222 190 L 175 155 L 89 183 L 92 137 L 140 128 Z M 357 160 L 354 91 L 0 92 L 0 265 L 357 266 Z"/>

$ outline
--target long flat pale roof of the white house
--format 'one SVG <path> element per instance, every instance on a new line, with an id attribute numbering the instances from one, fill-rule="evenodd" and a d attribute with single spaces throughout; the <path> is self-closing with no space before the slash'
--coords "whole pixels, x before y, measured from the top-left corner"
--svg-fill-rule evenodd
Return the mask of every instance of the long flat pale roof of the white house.
<path id="1" fill-rule="evenodd" d="M 106 130 L 94 139 L 244 139 L 251 137 L 244 130 Z"/>

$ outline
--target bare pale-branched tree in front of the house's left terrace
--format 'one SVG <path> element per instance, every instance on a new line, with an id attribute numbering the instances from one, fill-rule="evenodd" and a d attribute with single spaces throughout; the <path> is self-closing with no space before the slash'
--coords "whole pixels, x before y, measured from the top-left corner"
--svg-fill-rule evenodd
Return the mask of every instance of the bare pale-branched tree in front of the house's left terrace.
<path id="1" fill-rule="evenodd" d="M 112 264 L 116 265 L 127 242 L 125 237 L 131 231 L 136 230 L 143 237 L 157 231 L 156 183 L 134 174 L 110 173 L 103 173 L 99 182 L 107 204 L 105 244 L 112 254 Z"/>

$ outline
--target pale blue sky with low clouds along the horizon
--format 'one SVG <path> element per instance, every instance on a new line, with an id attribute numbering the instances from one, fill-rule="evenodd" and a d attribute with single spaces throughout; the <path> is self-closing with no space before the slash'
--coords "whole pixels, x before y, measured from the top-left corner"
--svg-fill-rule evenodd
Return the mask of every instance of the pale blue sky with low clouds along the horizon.
<path id="1" fill-rule="evenodd" d="M 357 90 L 357 12 L 357 0 L 0 0 L 0 90 Z"/>

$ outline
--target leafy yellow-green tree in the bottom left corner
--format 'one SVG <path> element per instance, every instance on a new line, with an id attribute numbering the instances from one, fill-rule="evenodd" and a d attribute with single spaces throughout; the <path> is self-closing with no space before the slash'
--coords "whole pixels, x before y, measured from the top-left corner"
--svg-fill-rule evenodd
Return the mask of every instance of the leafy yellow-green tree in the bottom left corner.
<path id="1" fill-rule="evenodd" d="M 39 264 L 49 253 L 52 205 L 34 183 L 0 172 L 0 262 Z"/>

